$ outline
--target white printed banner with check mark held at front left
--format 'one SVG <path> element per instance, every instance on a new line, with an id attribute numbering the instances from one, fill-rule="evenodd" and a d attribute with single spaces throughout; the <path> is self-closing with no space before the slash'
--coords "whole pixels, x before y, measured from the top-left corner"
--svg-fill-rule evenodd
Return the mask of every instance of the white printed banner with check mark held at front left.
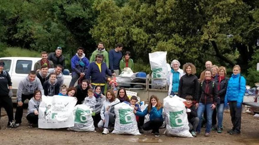
<path id="1" fill-rule="evenodd" d="M 39 128 L 66 128 L 74 126 L 75 97 L 42 96 L 39 105 Z"/>

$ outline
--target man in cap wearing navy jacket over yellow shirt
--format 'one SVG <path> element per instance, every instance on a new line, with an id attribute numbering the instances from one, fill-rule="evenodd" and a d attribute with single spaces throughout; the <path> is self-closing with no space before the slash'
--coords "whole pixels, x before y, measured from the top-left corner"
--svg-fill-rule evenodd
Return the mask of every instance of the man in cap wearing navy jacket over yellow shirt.
<path id="1" fill-rule="evenodd" d="M 102 62 L 103 61 L 103 54 L 98 53 L 95 56 L 95 61 L 91 62 L 89 68 L 87 70 L 86 79 L 90 80 L 91 77 L 91 85 L 94 86 L 100 85 L 101 91 L 104 94 L 104 86 L 106 83 L 106 75 L 108 76 L 115 76 L 116 74 L 113 73 L 108 69 L 107 65 Z"/>

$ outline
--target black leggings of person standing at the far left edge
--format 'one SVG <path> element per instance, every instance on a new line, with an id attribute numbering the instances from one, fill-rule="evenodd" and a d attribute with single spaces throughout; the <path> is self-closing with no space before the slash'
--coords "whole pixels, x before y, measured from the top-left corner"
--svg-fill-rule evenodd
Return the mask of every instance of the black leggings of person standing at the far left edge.
<path id="1" fill-rule="evenodd" d="M 4 107 L 7 116 L 8 116 L 8 124 L 14 120 L 14 113 L 13 113 L 13 102 L 9 96 L 0 96 L 0 116 L 1 116 L 1 107 Z"/>

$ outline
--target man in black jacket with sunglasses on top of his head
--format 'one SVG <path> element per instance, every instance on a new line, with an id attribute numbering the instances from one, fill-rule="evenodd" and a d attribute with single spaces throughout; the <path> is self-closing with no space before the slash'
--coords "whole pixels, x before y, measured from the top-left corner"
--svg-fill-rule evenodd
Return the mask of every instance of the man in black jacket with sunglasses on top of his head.
<path id="1" fill-rule="evenodd" d="M 55 52 L 51 52 L 48 56 L 48 59 L 53 62 L 55 68 L 58 64 L 62 65 L 63 67 L 62 73 L 64 75 L 69 75 L 69 70 L 65 69 L 65 66 L 66 66 L 65 56 L 62 55 L 61 47 L 57 47 Z"/>

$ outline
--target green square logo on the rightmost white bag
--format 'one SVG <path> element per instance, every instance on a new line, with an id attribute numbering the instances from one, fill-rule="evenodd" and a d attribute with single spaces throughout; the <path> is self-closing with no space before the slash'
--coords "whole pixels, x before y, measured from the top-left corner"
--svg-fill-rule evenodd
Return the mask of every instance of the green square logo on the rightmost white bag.
<path id="1" fill-rule="evenodd" d="M 183 110 L 178 112 L 170 112 L 170 125 L 171 127 L 180 127 L 182 124 Z"/>

